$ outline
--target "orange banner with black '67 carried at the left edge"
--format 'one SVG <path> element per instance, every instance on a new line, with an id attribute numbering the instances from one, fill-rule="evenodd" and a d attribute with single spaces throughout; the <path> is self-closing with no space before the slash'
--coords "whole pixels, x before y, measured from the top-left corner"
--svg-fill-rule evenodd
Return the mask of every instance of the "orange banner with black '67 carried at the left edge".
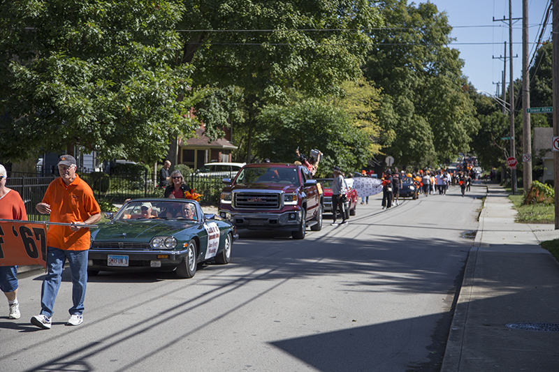
<path id="1" fill-rule="evenodd" d="M 47 228 L 31 221 L 0 221 L 0 266 L 46 267 Z"/>

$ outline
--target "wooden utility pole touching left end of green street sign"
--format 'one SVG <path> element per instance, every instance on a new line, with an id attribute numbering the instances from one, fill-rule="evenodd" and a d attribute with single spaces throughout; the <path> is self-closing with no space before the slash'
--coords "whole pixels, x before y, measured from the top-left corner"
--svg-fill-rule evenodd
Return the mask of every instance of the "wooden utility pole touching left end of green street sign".
<path id="1" fill-rule="evenodd" d="M 528 71 L 528 0 L 522 0 L 522 149 L 524 194 L 532 185 L 532 129 L 530 128 L 530 72 Z M 512 107 L 511 107 L 512 108 Z"/>

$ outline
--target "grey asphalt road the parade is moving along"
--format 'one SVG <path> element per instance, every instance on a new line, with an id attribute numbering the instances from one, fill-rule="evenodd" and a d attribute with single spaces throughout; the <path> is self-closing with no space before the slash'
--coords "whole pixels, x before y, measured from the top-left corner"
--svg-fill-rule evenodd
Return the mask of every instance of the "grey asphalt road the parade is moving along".
<path id="1" fill-rule="evenodd" d="M 481 191 L 371 198 L 303 241 L 241 230 L 232 263 L 192 279 L 102 272 L 78 327 L 68 269 L 50 330 L 29 323 L 43 275 L 22 274 L 22 318 L 0 300 L 0 370 L 439 371 Z"/>

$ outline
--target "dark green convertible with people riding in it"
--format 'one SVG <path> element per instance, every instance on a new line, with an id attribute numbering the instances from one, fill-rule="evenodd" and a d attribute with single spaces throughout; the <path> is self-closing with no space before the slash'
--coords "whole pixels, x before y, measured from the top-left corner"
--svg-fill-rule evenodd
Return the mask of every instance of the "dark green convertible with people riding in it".
<path id="1" fill-rule="evenodd" d="M 175 271 L 180 278 L 196 274 L 196 265 L 213 260 L 227 264 L 235 226 L 203 214 L 188 199 L 135 199 L 110 221 L 92 230 L 89 275 L 99 271 Z"/>

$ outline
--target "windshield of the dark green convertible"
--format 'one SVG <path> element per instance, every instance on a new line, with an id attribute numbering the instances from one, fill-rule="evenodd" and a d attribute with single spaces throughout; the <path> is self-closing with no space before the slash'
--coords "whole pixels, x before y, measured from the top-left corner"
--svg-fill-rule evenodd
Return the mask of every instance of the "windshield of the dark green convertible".
<path id="1" fill-rule="evenodd" d="M 189 200 L 132 200 L 118 211 L 115 220 L 177 219 L 197 221 L 196 204 Z"/>

